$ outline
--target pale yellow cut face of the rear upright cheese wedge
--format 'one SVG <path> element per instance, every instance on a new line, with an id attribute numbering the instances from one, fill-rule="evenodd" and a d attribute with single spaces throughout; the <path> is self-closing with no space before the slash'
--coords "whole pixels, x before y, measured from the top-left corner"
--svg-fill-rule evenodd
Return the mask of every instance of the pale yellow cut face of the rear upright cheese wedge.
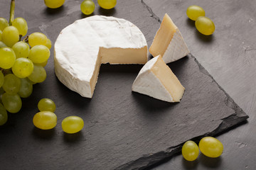
<path id="1" fill-rule="evenodd" d="M 156 32 L 151 47 L 149 47 L 149 52 L 151 53 L 151 55 L 153 55 L 154 57 L 156 57 L 157 55 L 164 56 L 164 52 L 170 44 L 171 39 L 174 37 L 174 33 L 176 33 L 176 30 L 177 27 L 174 22 L 167 14 L 165 14 L 164 19 L 161 22 L 161 26 Z"/>

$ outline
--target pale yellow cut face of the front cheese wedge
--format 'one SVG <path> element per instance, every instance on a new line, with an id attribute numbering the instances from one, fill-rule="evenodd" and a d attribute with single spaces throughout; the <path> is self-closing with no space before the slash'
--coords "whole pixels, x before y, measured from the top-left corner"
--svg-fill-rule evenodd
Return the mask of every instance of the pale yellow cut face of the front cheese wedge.
<path id="1" fill-rule="evenodd" d="M 181 101 L 185 88 L 161 57 L 151 68 L 151 72 L 161 81 L 175 102 Z"/>

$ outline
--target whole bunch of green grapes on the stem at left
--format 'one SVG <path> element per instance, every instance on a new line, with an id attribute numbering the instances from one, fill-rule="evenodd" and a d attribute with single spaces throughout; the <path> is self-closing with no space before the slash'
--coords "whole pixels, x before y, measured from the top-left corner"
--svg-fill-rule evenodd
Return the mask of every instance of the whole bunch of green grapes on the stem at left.
<path id="1" fill-rule="evenodd" d="M 24 18 L 10 16 L 9 23 L 0 18 L 0 125 L 6 123 L 7 111 L 21 110 L 21 98 L 32 94 L 33 84 L 46 79 L 51 42 L 43 33 L 22 40 L 27 32 Z"/>

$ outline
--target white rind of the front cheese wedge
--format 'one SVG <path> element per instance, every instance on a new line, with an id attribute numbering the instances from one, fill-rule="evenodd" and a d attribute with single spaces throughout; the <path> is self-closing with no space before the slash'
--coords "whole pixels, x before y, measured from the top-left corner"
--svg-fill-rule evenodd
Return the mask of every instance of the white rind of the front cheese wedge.
<path id="1" fill-rule="evenodd" d="M 174 102 L 169 91 L 166 90 L 161 81 L 156 75 L 151 72 L 151 68 L 154 66 L 159 56 L 149 60 L 144 67 L 142 67 L 138 76 L 132 84 L 132 91 L 136 91 L 140 94 L 145 94 L 153 98 L 160 99 L 162 101 Z"/>

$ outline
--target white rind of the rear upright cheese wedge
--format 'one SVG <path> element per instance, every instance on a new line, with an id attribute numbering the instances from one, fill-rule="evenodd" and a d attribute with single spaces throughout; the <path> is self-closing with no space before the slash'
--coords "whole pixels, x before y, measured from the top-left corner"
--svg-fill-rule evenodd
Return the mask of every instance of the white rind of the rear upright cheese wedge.
<path id="1" fill-rule="evenodd" d="M 175 62 L 188 55 L 188 53 L 188 47 L 183 40 L 181 32 L 177 29 L 162 58 L 165 63 Z"/>

